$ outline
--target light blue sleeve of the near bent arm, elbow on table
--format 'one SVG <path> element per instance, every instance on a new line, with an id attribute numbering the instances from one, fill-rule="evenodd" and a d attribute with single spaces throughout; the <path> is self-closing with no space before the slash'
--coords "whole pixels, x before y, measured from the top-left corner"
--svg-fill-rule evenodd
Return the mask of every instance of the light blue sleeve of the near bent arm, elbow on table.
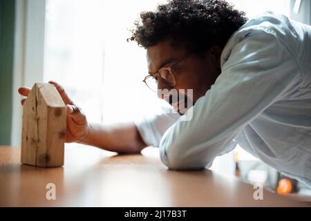
<path id="1" fill-rule="evenodd" d="M 254 31 L 232 47 L 222 73 L 190 108 L 191 119 L 171 126 L 160 140 L 160 157 L 170 169 L 202 169 L 229 150 L 243 127 L 290 93 L 299 68 L 270 32 Z"/>

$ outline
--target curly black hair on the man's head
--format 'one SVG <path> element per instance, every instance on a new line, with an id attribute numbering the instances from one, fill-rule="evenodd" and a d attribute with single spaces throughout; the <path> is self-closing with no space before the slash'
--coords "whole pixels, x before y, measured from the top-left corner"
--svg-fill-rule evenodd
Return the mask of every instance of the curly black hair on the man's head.
<path id="1" fill-rule="evenodd" d="M 211 46 L 223 48 L 229 37 L 247 22 L 245 12 L 223 0 L 171 0 L 154 12 L 141 12 L 128 41 L 149 48 L 164 39 L 185 43 L 202 54 Z M 176 44 L 175 46 L 177 46 Z"/>

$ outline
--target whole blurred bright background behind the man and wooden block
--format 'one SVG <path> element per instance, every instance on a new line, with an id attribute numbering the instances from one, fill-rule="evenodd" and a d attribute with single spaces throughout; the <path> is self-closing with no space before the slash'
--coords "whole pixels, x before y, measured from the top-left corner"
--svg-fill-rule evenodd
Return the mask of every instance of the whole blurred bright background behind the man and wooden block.
<path id="1" fill-rule="evenodd" d="M 143 83 L 143 48 L 127 42 L 144 10 L 163 0 L 1 0 L 0 145 L 21 142 L 19 86 L 58 81 L 89 122 L 131 121 L 158 113 L 160 102 Z M 311 25 L 309 0 L 231 0 L 252 18 L 272 10 Z M 66 144 L 77 145 L 77 144 Z M 279 193 L 311 195 L 303 184 L 283 177 L 240 146 L 217 157 L 212 170 L 262 182 Z"/>

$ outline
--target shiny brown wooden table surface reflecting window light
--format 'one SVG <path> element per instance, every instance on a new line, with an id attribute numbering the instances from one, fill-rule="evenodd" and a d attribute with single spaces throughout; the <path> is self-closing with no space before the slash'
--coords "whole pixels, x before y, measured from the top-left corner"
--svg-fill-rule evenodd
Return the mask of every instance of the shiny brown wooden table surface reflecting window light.
<path id="1" fill-rule="evenodd" d="M 171 171 L 157 148 L 116 155 L 91 146 L 66 146 L 63 167 L 19 163 L 20 148 L 0 146 L 0 206 L 311 206 L 209 170 Z M 46 200 L 46 184 L 56 200 Z"/>

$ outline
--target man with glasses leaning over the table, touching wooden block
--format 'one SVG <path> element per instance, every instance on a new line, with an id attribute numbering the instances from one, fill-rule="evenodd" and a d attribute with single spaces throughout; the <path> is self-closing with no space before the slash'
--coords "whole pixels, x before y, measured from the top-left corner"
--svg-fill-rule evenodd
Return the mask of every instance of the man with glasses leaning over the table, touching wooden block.
<path id="1" fill-rule="evenodd" d="M 311 27 L 267 12 L 247 22 L 226 1 L 176 0 L 142 12 L 130 40 L 147 49 L 158 89 L 192 89 L 185 115 L 88 124 L 67 104 L 66 142 L 119 153 L 160 147 L 170 169 L 202 169 L 240 144 L 263 162 L 311 187 Z M 27 96 L 29 88 L 19 88 Z M 169 94 L 159 94 L 180 112 Z M 23 104 L 25 100 L 21 102 Z M 182 102 L 182 101 L 178 101 Z M 183 120 L 191 111 L 192 117 Z"/>

